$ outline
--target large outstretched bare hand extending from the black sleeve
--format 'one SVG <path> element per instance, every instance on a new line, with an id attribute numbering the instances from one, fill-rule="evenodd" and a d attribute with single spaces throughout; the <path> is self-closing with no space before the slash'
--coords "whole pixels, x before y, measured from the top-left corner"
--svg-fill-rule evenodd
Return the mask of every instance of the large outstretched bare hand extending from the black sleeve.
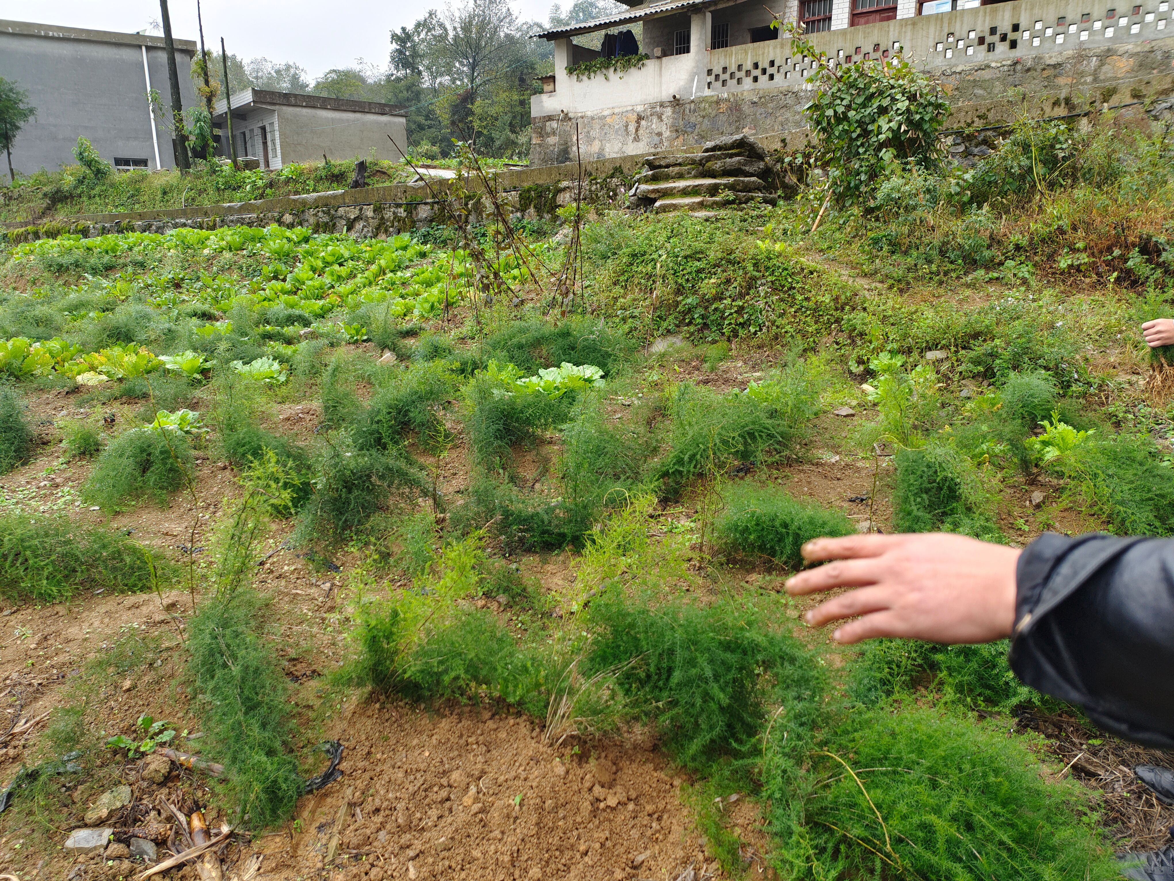
<path id="1" fill-rule="evenodd" d="M 863 616 L 832 633 L 837 643 L 876 637 L 990 643 L 1010 637 L 1014 625 L 1019 553 L 944 532 L 817 538 L 803 545 L 803 557 L 835 561 L 792 576 L 787 592 L 858 589 L 804 616 L 815 627 Z"/>

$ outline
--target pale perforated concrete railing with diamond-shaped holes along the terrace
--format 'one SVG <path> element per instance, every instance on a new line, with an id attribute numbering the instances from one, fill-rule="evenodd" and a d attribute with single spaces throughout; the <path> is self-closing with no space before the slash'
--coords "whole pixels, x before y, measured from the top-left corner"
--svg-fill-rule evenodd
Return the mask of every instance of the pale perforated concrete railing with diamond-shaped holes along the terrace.
<path id="1" fill-rule="evenodd" d="M 826 31 L 810 39 L 836 65 L 889 58 L 904 48 L 906 58 L 932 68 L 1174 38 L 1169 7 L 1170 0 L 1116 7 L 1093 7 L 1087 0 L 1005 2 Z M 805 80 L 814 73 L 815 61 L 794 55 L 790 40 L 769 40 L 711 49 L 706 66 L 706 94 L 723 94 L 811 88 Z"/>

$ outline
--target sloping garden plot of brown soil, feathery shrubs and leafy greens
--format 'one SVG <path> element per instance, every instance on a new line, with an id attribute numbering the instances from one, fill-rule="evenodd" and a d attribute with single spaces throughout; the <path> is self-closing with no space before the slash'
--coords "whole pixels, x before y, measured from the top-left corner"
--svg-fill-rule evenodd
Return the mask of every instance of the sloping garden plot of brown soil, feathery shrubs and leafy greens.
<path id="1" fill-rule="evenodd" d="M 14 791 L 7 862 L 139 870 L 58 850 L 126 785 L 115 843 L 198 811 L 229 876 L 1114 877 L 1143 751 L 1005 645 L 834 648 L 780 586 L 862 526 L 1169 534 L 1161 404 L 1055 291 L 864 295 L 788 210 L 588 224 L 567 315 L 406 236 L 12 248 L 0 674 L 55 712 L 4 767 L 90 773 Z"/>

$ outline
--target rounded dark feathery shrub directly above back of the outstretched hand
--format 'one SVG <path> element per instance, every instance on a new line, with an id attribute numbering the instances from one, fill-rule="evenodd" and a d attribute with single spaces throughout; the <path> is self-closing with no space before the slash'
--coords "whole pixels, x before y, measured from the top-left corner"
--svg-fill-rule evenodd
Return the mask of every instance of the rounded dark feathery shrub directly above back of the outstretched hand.
<path id="1" fill-rule="evenodd" d="M 953 448 L 932 445 L 897 453 L 893 525 L 898 532 L 945 530 L 1003 542 L 974 466 Z"/>

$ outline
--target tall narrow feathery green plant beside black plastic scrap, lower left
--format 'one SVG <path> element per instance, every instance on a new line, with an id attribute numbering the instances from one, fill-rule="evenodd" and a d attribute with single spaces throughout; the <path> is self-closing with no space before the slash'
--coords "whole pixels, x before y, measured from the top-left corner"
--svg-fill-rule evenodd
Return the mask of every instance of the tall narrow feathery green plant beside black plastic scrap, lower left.
<path id="1" fill-rule="evenodd" d="M 207 749 L 224 766 L 238 821 L 275 826 L 294 815 L 302 793 L 289 685 L 256 621 L 249 592 L 201 606 L 188 621 L 188 673 Z"/>

